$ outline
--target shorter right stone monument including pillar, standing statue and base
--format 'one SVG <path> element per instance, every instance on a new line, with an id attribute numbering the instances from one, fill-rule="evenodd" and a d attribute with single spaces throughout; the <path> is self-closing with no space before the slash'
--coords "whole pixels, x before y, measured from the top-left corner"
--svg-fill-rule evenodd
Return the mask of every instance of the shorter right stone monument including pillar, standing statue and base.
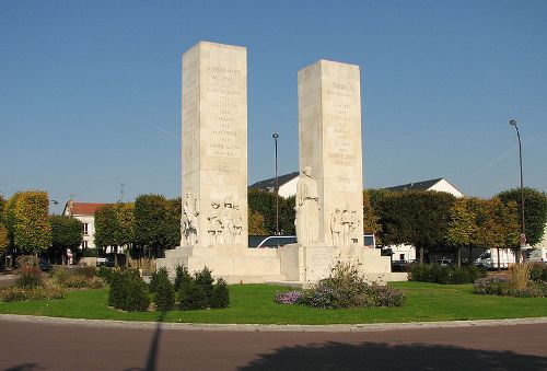
<path id="1" fill-rule="evenodd" d="M 319 60 L 299 71 L 298 243 L 278 250 L 289 281 L 315 282 L 338 262 L 369 281 L 406 280 L 363 246 L 360 92 L 358 66 Z"/>

